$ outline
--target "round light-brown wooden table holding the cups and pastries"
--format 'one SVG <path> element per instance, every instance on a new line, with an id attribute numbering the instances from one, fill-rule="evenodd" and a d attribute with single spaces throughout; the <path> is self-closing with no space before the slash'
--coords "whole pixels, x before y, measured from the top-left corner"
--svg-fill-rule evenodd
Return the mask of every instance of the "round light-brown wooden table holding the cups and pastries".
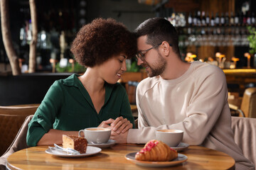
<path id="1" fill-rule="evenodd" d="M 61 158 L 46 154 L 47 146 L 22 149 L 7 158 L 9 169 L 149 169 L 124 158 L 138 152 L 144 145 L 118 144 L 102 149 L 92 157 Z M 228 154 L 206 147 L 190 146 L 180 152 L 188 157 L 186 162 L 161 169 L 234 169 L 235 161 Z M 159 168 L 150 168 L 159 169 Z"/>

